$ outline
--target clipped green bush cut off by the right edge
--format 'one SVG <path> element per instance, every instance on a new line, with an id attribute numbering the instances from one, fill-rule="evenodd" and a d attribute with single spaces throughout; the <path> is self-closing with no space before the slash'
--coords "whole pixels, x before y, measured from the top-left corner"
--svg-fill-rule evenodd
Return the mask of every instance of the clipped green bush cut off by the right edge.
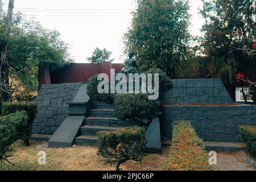
<path id="1" fill-rule="evenodd" d="M 251 155 L 256 156 L 256 127 L 254 126 L 239 126 L 240 135 L 243 142 L 246 143 L 246 148 Z"/>

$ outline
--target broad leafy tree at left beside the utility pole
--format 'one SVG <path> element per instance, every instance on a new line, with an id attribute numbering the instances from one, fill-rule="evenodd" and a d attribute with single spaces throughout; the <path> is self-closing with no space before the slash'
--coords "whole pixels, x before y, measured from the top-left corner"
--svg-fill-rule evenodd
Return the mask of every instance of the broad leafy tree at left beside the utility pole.
<path id="1" fill-rule="evenodd" d="M 4 31 L 6 14 L 0 14 L 0 32 Z M 21 13 L 13 17 L 13 27 L 10 36 L 0 34 L 1 42 L 8 42 L 7 61 L 10 78 L 9 85 L 1 85 L 1 90 L 9 97 L 3 101 L 10 101 L 13 93 L 35 92 L 38 88 L 38 67 L 49 65 L 51 69 L 64 67 L 72 62 L 68 53 L 69 46 L 60 39 L 56 30 L 48 30 L 33 19 L 28 19 Z"/>

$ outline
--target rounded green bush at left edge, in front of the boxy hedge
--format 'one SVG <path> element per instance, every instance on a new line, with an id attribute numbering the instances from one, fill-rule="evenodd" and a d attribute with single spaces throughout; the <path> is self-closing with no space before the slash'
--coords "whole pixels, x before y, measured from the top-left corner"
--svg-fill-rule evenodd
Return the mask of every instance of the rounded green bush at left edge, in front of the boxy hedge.
<path id="1" fill-rule="evenodd" d="M 10 145 L 20 138 L 20 131 L 27 126 L 26 111 L 17 111 L 0 118 L 0 160 L 7 161 Z"/>

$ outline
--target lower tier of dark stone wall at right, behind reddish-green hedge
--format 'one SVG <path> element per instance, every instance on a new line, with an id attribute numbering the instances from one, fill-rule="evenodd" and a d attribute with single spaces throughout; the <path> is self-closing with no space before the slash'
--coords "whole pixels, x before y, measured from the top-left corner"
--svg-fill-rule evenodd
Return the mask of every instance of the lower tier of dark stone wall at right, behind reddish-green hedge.
<path id="1" fill-rule="evenodd" d="M 172 121 L 191 122 L 201 139 L 208 142 L 241 142 L 239 125 L 256 126 L 255 105 L 166 106 L 160 118 L 161 134 L 171 138 Z"/>

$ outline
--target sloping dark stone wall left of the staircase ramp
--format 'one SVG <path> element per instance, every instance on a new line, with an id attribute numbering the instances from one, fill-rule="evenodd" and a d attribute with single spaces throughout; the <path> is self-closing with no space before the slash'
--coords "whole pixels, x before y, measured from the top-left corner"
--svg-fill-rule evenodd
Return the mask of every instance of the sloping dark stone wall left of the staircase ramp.
<path id="1" fill-rule="evenodd" d="M 35 101 L 37 114 L 32 125 L 34 134 L 53 134 L 67 117 L 68 105 L 81 83 L 42 85 Z"/>

